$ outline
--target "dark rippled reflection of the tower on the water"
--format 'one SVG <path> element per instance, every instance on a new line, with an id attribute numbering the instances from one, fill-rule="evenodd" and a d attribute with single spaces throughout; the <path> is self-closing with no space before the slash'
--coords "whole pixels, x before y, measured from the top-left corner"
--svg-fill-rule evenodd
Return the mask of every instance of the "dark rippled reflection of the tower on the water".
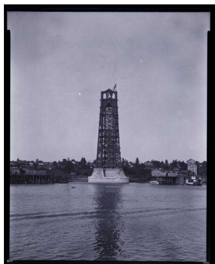
<path id="1" fill-rule="evenodd" d="M 96 260 L 117 260 L 122 254 L 124 221 L 119 214 L 122 185 L 96 184 Z"/>

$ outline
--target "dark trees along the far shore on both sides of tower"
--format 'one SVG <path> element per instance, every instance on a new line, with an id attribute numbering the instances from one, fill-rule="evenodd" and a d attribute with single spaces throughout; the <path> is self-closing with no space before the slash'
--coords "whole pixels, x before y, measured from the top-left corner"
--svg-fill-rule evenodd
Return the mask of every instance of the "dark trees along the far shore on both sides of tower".
<path id="1" fill-rule="evenodd" d="M 93 162 L 87 162 L 84 157 L 81 158 L 80 161 L 76 161 L 74 159 L 63 159 L 62 161 L 54 161 L 50 162 L 43 162 L 39 159 L 36 161 L 22 161 L 19 158 L 17 161 L 13 161 L 13 166 L 24 168 L 29 166 L 30 163 L 33 164 L 34 169 L 47 169 L 49 174 L 71 174 L 72 172 L 76 175 L 82 175 L 84 170 L 88 170 L 88 174 L 93 172 L 93 168 L 96 167 L 96 160 Z M 39 164 L 44 164 L 40 166 Z M 201 176 L 207 176 L 207 162 L 204 161 L 199 163 L 196 161 L 197 165 L 197 174 Z M 131 178 L 145 178 L 147 179 L 151 175 L 151 170 L 155 168 L 161 168 L 165 170 L 186 170 L 187 164 L 184 161 L 173 160 L 172 162 L 168 163 L 167 159 L 165 162 L 158 161 L 158 160 L 151 160 L 146 161 L 144 163 L 139 161 L 139 158 L 136 158 L 135 162 L 129 162 L 128 160 L 122 158 L 121 159 L 121 168 L 126 176 Z"/>

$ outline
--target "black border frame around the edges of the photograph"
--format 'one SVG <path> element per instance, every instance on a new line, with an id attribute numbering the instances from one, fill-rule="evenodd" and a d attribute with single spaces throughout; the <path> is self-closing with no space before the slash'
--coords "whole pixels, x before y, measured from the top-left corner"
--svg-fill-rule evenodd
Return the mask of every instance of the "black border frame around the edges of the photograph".
<path id="1" fill-rule="evenodd" d="M 50 5 L 33 5 L 30 4 L 7 4 L 4 5 L 3 8 L 3 19 L 7 18 L 7 11 L 24 11 L 24 12 L 211 12 L 211 7 L 205 5 L 196 5 L 196 6 L 144 6 L 144 7 L 81 7 L 80 4 L 76 5 L 75 7 L 68 7 L 68 6 L 55 6 L 50 7 Z M 211 30 L 213 29 L 212 25 L 212 12 L 211 12 Z M 5 23 L 5 20 L 3 21 Z M 7 24 L 7 23 L 5 23 Z M 5 32 L 5 31 L 4 31 Z M 214 218 L 212 218 L 212 187 L 214 179 L 214 175 L 212 175 L 211 169 L 211 99 L 212 99 L 212 90 L 211 90 L 211 57 L 212 57 L 212 50 L 211 50 L 211 31 L 208 32 L 208 77 L 207 77 L 207 90 L 208 90 L 208 99 L 207 99 L 207 262 L 214 263 L 214 252 L 213 252 L 213 244 L 214 244 L 214 237 L 212 237 L 212 229 Z M 10 31 L 6 31 L 6 52 L 4 53 L 6 57 L 6 157 L 5 157 L 5 164 L 9 164 L 10 160 Z M 9 203 L 10 203 L 10 183 L 9 183 L 9 166 L 6 166 L 6 175 L 3 184 L 6 184 L 6 232 L 5 232 L 5 255 L 4 261 L 8 263 L 7 260 L 9 259 Z M 212 176 L 212 177 L 211 177 Z M 4 188 L 4 187 L 3 187 Z M 17 264 L 25 264 L 25 263 L 32 263 L 32 264 L 42 264 L 42 263 L 63 263 L 63 264 L 92 264 L 92 263 L 102 263 L 102 264 L 109 264 L 109 263 L 116 263 L 115 261 L 13 261 L 9 263 L 17 263 Z M 120 264 L 142 264 L 142 263 L 152 263 L 152 264 L 161 264 L 161 263 L 174 263 L 174 264 L 185 264 L 185 263 L 202 263 L 202 262 L 147 262 L 147 261 L 117 261 Z"/>

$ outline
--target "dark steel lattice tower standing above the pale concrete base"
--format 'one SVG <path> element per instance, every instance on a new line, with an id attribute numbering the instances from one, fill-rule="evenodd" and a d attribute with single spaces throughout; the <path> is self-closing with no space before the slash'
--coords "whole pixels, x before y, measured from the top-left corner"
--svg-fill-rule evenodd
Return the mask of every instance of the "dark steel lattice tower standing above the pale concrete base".
<path id="1" fill-rule="evenodd" d="M 120 168 L 119 116 L 116 85 L 101 92 L 96 167 Z"/>

